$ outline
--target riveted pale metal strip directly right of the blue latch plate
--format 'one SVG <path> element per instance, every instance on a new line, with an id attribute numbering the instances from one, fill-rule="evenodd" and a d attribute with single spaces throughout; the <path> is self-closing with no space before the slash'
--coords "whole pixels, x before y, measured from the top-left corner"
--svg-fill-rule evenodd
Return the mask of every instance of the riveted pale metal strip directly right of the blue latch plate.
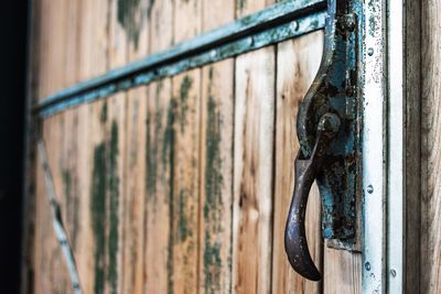
<path id="1" fill-rule="evenodd" d="M 363 66 L 363 293 L 386 292 L 386 0 L 366 1 Z"/>

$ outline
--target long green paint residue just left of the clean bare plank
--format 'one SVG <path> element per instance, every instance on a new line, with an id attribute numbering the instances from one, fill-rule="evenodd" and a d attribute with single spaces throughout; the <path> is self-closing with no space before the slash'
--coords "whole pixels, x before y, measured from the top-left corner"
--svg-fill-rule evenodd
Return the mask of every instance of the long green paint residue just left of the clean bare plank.
<path id="1" fill-rule="evenodd" d="M 205 203 L 204 203 L 204 222 L 205 222 L 205 248 L 204 248 L 204 288 L 205 293 L 218 293 L 222 290 L 222 259 L 220 243 L 216 241 L 217 233 L 223 231 L 223 175 L 220 159 L 220 117 L 217 105 L 213 96 L 212 79 L 213 67 L 208 73 L 209 88 L 207 101 L 207 128 L 205 135 L 206 146 L 206 166 L 205 166 Z M 212 237 L 212 233 L 215 235 Z"/>

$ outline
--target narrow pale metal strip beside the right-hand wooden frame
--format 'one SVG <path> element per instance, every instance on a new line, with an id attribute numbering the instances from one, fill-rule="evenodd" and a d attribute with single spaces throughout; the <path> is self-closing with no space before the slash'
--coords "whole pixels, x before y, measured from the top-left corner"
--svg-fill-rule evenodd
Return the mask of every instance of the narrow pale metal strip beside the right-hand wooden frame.
<path id="1" fill-rule="evenodd" d="M 387 268 L 388 293 L 404 290 L 405 202 L 405 97 L 404 97 L 404 2 L 388 0 L 388 172 L 387 172 Z"/>

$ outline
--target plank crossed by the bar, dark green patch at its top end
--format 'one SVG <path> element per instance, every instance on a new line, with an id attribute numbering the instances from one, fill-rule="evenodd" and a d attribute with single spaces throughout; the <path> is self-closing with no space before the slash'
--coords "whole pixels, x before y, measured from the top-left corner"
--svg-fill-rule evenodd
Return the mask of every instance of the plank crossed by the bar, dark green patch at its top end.
<path id="1" fill-rule="evenodd" d="M 152 2 L 119 1 L 118 22 L 126 31 L 128 62 L 146 57 L 149 53 L 149 17 Z M 143 292 L 144 204 L 146 204 L 146 132 L 148 88 L 127 91 L 126 165 L 123 166 L 123 279 L 121 293 Z"/>

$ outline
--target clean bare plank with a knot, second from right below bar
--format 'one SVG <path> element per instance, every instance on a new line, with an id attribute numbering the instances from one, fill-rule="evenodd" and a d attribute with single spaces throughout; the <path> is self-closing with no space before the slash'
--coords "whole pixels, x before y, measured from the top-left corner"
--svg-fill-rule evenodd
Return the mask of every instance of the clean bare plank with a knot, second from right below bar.
<path id="1" fill-rule="evenodd" d="M 275 140 L 275 48 L 236 61 L 234 255 L 236 293 L 271 285 L 271 210 Z"/>

